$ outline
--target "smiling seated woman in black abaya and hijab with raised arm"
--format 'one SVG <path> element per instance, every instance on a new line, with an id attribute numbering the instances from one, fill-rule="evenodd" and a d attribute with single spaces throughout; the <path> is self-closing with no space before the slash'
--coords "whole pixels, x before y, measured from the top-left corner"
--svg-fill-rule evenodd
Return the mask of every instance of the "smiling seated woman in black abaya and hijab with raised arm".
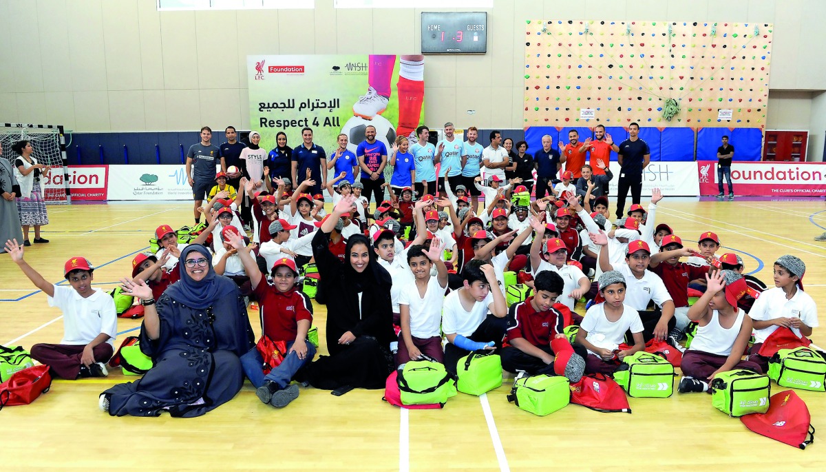
<path id="1" fill-rule="evenodd" d="M 376 262 L 367 236 L 349 237 L 344 261 L 329 247 L 330 233 L 354 202 L 348 195 L 336 203 L 312 241 L 328 303 L 330 351 L 307 367 L 306 380 L 316 389 L 383 389 L 392 370 L 390 274 Z"/>

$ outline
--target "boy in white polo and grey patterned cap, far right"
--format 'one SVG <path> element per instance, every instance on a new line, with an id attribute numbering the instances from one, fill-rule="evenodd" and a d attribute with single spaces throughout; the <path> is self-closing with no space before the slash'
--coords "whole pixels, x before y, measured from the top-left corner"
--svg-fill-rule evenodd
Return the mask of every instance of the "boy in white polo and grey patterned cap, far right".
<path id="1" fill-rule="evenodd" d="M 760 365 L 763 372 L 768 372 L 769 358 L 758 353 L 777 328 L 789 328 L 802 338 L 812 336 L 813 328 L 819 326 L 818 307 L 803 291 L 805 272 L 802 260 L 794 255 L 781 255 L 774 264 L 775 288 L 761 293 L 748 312 L 754 321 L 754 345 L 748 350 L 748 360 Z"/>

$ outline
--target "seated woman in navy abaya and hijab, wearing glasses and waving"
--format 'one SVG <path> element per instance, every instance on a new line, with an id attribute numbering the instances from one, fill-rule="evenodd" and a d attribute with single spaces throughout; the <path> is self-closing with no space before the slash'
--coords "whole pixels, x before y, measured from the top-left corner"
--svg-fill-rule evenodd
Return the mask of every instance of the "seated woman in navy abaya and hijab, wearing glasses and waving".
<path id="1" fill-rule="evenodd" d="M 123 279 L 124 293 L 145 306 L 140 350 L 153 367 L 140 380 L 103 392 L 100 407 L 112 416 L 197 417 L 235 397 L 244 383 L 240 356 L 253 347 L 253 331 L 235 283 L 216 275 L 206 247 L 181 250 L 181 279 L 158 299 L 142 280 Z"/>

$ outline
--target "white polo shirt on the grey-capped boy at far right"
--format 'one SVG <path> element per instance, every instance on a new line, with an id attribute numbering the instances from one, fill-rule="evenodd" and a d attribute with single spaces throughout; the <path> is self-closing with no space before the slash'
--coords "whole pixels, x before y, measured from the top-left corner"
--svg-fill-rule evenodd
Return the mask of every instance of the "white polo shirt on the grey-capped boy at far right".
<path id="1" fill-rule="evenodd" d="M 800 288 L 797 289 L 790 300 L 786 300 L 786 292 L 783 291 L 783 288 L 769 288 L 760 294 L 760 297 L 752 305 L 751 311 L 748 312 L 748 316 L 758 322 L 767 322 L 779 317 L 800 318 L 800 321 L 804 322 L 807 327 L 816 328 L 819 326 L 818 307 L 809 296 L 809 293 L 805 293 Z M 777 327 L 772 325 L 762 330 L 755 330 L 754 342 L 766 341 L 766 338 L 776 329 Z M 803 336 L 797 328 L 791 328 L 791 331 L 798 337 Z"/>

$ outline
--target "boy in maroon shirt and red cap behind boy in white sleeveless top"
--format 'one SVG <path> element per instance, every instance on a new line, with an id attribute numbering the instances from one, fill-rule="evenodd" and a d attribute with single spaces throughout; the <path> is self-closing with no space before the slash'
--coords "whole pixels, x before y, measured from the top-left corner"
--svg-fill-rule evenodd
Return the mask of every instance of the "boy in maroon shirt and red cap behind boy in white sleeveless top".
<path id="1" fill-rule="evenodd" d="M 710 269 L 708 265 L 687 265 L 680 261 L 681 257 L 692 255 L 695 255 L 695 251 L 685 249 L 680 236 L 669 235 L 662 238 L 660 252 L 651 255 L 648 261 L 648 270 L 660 276 L 674 301 L 676 325 L 668 333 L 668 341 L 674 347 L 679 346 L 677 341 L 680 341 L 686 327 L 691 322 L 688 319 L 688 283 L 691 280 L 705 278 L 705 274 L 708 274 Z"/>

